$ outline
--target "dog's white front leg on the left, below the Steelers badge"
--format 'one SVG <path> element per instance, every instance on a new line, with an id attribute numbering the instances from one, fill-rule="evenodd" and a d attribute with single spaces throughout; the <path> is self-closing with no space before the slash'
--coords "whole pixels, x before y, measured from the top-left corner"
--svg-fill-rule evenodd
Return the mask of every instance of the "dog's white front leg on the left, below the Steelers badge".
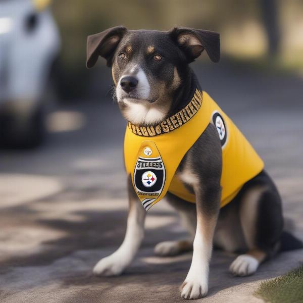
<path id="1" fill-rule="evenodd" d="M 128 178 L 129 213 L 125 238 L 121 246 L 110 256 L 101 259 L 94 267 L 95 275 L 116 276 L 133 261 L 144 235 L 146 211 L 134 192 Z"/>

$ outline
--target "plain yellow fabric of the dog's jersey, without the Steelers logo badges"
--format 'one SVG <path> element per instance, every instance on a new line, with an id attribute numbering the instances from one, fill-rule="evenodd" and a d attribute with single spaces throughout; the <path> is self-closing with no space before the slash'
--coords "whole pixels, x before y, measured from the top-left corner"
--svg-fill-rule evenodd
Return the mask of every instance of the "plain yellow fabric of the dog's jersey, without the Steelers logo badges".
<path id="1" fill-rule="evenodd" d="M 223 117 L 227 134 L 226 142 L 222 146 L 221 207 L 232 200 L 245 182 L 262 171 L 263 161 L 243 134 L 205 91 L 201 93 L 196 90 L 185 109 L 155 128 L 134 126 L 130 123 L 126 127 L 124 161 L 126 172 L 132 176 L 133 185 L 134 170 L 140 156 L 153 158 L 160 155 L 165 167 L 164 187 L 155 196 L 150 207 L 160 201 L 167 191 L 186 201 L 195 202 L 194 194 L 183 186 L 175 172 L 187 150 L 209 123 L 213 123 L 212 117 L 216 112 Z M 153 155 L 143 155 L 145 147 L 150 147 Z M 147 198 L 142 194 L 138 194 L 138 197 L 141 201 Z"/>

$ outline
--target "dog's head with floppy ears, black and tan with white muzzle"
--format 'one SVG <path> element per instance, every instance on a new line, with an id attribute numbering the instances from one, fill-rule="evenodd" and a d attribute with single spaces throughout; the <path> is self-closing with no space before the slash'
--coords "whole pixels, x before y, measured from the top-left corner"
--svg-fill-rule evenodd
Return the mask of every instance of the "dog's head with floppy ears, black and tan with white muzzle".
<path id="1" fill-rule="evenodd" d="M 206 50 L 220 59 L 219 34 L 207 30 L 171 31 L 107 29 L 87 38 L 88 68 L 98 56 L 112 67 L 116 97 L 123 116 L 133 124 L 153 125 L 165 119 L 173 98 L 188 77 L 188 64 Z"/>

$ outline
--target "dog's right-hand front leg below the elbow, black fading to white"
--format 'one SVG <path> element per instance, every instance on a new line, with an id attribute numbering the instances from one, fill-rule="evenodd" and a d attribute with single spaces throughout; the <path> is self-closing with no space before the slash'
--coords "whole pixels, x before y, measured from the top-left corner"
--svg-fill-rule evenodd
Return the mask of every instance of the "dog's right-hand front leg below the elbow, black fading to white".
<path id="1" fill-rule="evenodd" d="M 208 292 L 209 262 L 220 209 L 220 184 L 208 189 L 195 187 L 197 226 L 191 266 L 181 286 L 181 296 L 185 299 L 201 298 Z"/>

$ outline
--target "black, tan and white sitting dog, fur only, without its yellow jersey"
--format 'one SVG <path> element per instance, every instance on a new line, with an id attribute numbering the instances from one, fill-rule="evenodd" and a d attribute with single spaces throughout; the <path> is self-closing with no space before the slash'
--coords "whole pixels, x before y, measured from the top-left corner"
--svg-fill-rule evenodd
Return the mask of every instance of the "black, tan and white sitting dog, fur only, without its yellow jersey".
<path id="1" fill-rule="evenodd" d="M 219 34 L 189 28 L 162 32 L 117 26 L 88 37 L 87 67 L 92 67 L 98 56 L 104 57 L 112 67 L 116 98 L 124 118 L 135 125 L 155 126 L 186 106 L 189 88 L 196 83 L 188 64 L 204 49 L 212 61 L 219 61 Z M 230 265 L 230 271 L 239 276 L 255 273 L 262 262 L 278 251 L 302 247 L 300 241 L 282 231 L 281 199 L 264 170 L 245 183 L 220 210 L 221 158 L 217 130 L 209 124 L 177 169 L 182 182 L 195 193 L 196 204 L 167 194 L 189 237 L 161 242 L 155 253 L 171 256 L 193 249 L 192 263 L 181 286 L 181 296 L 186 299 L 200 298 L 208 292 L 213 244 L 240 254 Z M 121 274 L 143 239 L 146 212 L 131 178 L 128 194 L 125 239 L 117 251 L 96 264 L 96 275 Z"/>

